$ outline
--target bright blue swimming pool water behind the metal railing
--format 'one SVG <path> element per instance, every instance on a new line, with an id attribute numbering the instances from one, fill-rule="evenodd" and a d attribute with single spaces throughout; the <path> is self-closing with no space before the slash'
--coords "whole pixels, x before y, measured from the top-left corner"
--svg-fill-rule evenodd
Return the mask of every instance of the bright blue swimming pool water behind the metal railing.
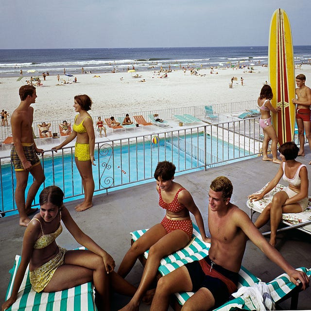
<path id="1" fill-rule="evenodd" d="M 113 190 L 129 187 L 129 184 L 138 185 L 153 181 L 153 174 L 159 161 L 168 160 L 175 164 L 176 172 L 194 171 L 204 169 L 204 133 L 175 139 L 173 146 L 171 139 L 160 138 L 157 144 L 150 140 L 137 144 L 121 144 L 116 146 L 110 143 L 100 144 L 99 150 L 95 150 L 95 163 L 93 176 L 95 181 L 95 195 L 104 193 L 106 189 Z M 234 147 L 222 140 L 216 140 L 207 136 L 207 161 L 231 161 L 234 156 L 248 155 L 244 150 Z M 186 152 L 185 152 L 186 145 Z M 197 147 L 201 152 L 197 151 Z M 212 151 L 211 151 L 212 150 Z M 210 154 L 214 155 L 213 159 Z M 216 156 L 216 158 L 215 158 Z M 178 160 L 179 159 L 179 160 Z M 67 154 L 46 156 L 43 161 L 46 176 L 45 186 L 57 185 L 65 193 L 65 202 L 83 198 L 80 174 L 74 163 L 74 155 Z M 64 172 L 64 173 L 63 173 Z M 7 211 L 15 207 L 14 188 L 16 185 L 15 173 L 12 173 L 10 165 L 1 167 L 1 197 L 2 210 Z M 178 174 L 178 173 L 177 173 Z M 32 183 L 30 175 L 28 188 Z M 26 189 L 26 193 L 28 191 Z M 43 189 L 41 186 L 40 191 Z M 77 196 L 78 195 L 78 196 Z M 38 194 L 35 198 L 38 204 Z M 16 211 L 15 211 L 16 213 Z"/>

